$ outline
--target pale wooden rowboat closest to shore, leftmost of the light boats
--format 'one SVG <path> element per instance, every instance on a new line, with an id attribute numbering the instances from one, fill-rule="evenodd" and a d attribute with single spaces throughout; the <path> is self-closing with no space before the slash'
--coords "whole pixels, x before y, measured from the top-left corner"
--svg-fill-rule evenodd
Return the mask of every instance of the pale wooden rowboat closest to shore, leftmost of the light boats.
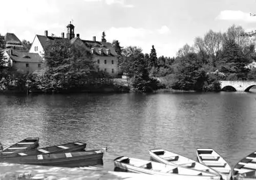
<path id="1" fill-rule="evenodd" d="M 194 169 L 180 166 L 167 165 L 153 161 L 140 160 L 125 156 L 118 157 L 114 160 L 115 170 L 120 169 L 126 172 L 145 173 L 153 175 L 169 175 L 173 177 L 196 177 L 197 179 L 221 179 L 220 175 L 210 172 L 197 171 Z"/>

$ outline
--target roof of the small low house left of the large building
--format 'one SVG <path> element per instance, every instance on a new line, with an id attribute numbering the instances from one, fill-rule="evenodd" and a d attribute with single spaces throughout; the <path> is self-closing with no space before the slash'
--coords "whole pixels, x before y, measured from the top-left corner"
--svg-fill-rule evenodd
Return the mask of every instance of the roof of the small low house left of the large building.
<path id="1" fill-rule="evenodd" d="M 26 63 L 41 63 L 42 58 L 38 53 L 28 53 L 28 52 L 17 52 L 12 49 L 6 50 L 7 54 L 10 56 L 13 62 L 26 62 Z"/>

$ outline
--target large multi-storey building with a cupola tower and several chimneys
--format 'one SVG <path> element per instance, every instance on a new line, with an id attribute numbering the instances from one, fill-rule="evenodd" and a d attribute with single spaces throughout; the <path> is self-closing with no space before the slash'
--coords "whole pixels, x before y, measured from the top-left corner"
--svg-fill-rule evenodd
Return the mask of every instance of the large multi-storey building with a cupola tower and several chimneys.
<path id="1" fill-rule="evenodd" d="M 71 44 L 75 46 L 82 46 L 87 48 L 93 54 L 93 61 L 95 62 L 98 70 L 108 72 L 111 76 L 116 77 L 118 75 L 118 61 L 117 54 L 112 44 L 109 42 L 96 41 L 96 37 L 93 40 L 82 40 L 79 34 L 75 37 L 75 27 L 73 24 L 67 25 L 67 36 L 61 33 L 61 37 L 48 36 L 48 31 L 45 31 L 45 35 L 35 35 L 33 43 L 30 47 L 30 53 L 38 53 L 41 57 L 44 57 L 45 49 L 48 43 L 51 43 L 57 39 L 69 39 Z"/>

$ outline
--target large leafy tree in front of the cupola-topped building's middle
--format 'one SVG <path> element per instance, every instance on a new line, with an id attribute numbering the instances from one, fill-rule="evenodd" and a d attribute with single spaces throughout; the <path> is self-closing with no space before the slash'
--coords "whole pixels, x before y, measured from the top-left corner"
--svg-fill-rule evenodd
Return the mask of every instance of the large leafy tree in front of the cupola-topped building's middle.
<path id="1" fill-rule="evenodd" d="M 67 39 L 56 40 L 46 48 L 48 70 L 42 81 L 50 90 L 83 88 L 96 76 L 89 50 L 74 47 Z"/>

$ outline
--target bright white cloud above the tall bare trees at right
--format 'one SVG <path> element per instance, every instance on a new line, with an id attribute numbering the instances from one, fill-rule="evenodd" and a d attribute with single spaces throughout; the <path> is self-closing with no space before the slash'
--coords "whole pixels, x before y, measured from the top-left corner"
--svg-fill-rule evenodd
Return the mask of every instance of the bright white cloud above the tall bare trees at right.
<path id="1" fill-rule="evenodd" d="M 243 11 L 224 10 L 216 17 L 220 20 L 241 20 L 245 22 L 256 22 L 256 17 L 250 16 L 250 13 Z"/>

